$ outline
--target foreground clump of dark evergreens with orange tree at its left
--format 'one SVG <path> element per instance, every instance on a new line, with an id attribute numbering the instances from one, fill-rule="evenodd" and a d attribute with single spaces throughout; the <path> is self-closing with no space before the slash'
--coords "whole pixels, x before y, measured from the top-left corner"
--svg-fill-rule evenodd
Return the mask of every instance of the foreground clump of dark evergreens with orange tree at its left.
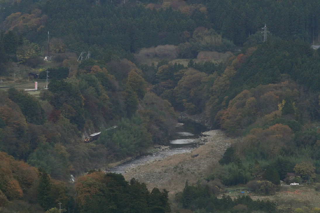
<path id="1" fill-rule="evenodd" d="M 80 177 L 75 187 L 80 212 L 170 212 L 166 190 L 150 193 L 144 183 L 128 183 L 121 174 L 95 171 Z"/>

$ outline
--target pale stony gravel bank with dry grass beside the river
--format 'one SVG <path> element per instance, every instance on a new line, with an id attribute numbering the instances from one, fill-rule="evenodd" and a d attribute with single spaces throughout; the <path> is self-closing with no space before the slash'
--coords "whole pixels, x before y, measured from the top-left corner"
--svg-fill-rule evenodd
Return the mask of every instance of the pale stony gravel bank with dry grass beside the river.
<path id="1" fill-rule="evenodd" d="M 228 138 L 221 130 L 211 130 L 203 133 L 199 140 L 203 145 L 189 153 L 176 154 L 163 159 L 157 159 L 146 164 L 131 167 L 126 170 L 126 180 L 135 178 L 147 184 L 149 190 L 153 187 L 167 189 L 169 196 L 182 191 L 188 179 L 194 184 L 210 173 L 210 166 L 217 163 L 224 151 L 230 146 Z"/>

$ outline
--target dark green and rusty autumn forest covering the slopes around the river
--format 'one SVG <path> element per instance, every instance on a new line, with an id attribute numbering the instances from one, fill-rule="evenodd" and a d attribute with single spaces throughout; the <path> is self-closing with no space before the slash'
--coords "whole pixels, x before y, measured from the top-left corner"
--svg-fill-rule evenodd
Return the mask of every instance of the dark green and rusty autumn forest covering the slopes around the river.
<path id="1" fill-rule="evenodd" d="M 165 189 L 92 169 L 165 145 L 181 112 L 234 138 L 204 177 L 219 189 L 273 194 L 288 172 L 320 182 L 319 14 L 316 0 L 1 0 L 1 210 L 169 212 Z M 16 87 L 46 71 L 37 95 Z M 82 176 L 75 186 L 71 174 Z M 186 184 L 176 201 L 277 211 L 208 190 Z"/>

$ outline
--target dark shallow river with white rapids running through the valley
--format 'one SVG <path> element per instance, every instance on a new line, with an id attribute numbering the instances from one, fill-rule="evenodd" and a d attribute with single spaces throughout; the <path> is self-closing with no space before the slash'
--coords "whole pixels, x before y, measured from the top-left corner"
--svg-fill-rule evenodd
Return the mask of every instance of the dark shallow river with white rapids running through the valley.
<path id="1" fill-rule="evenodd" d="M 187 123 L 177 128 L 178 132 L 175 138 L 168 141 L 166 144 L 169 146 L 167 150 L 153 152 L 152 155 L 138 156 L 128 160 L 120 165 L 117 165 L 111 169 L 109 172 L 124 174 L 125 171 L 130 167 L 136 167 L 148 163 L 152 160 L 162 159 L 167 156 L 174 154 L 180 154 L 185 152 L 191 152 L 192 149 L 199 146 L 199 137 L 202 136 L 201 133 L 207 131 L 207 129 L 196 123 Z"/>

